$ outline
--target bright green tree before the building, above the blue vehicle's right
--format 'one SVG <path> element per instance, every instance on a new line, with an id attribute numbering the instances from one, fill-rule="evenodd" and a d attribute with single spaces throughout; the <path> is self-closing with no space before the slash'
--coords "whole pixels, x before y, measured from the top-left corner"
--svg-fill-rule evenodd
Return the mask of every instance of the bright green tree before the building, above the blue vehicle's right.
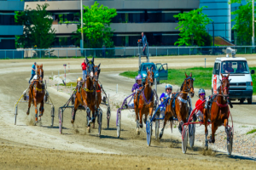
<path id="1" fill-rule="evenodd" d="M 174 15 L 177 18 L 180 33 L 178 41 L 174 45 L 186 46 L 198 45 L 204 46 L 207 41 L 203 37 L 207 37 L 206 26 L 212 21 L 207 17 L 207 14 L 202 14 L 202 9 L 207 7 L 197 8 L 189 11 L 189 13 L 179 13 Z"/>

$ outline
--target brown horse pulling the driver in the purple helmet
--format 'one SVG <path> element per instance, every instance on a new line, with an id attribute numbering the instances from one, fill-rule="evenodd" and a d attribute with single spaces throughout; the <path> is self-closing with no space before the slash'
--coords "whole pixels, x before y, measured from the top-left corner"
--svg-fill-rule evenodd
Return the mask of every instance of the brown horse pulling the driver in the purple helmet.
<path id="1" fill-rule="evenodd" d="M 151 88 L 153 83 L 153 68 L 151 70 L 148 70 L 147 68 L 147 77 L 145 79 L 145 85 L 144 87 L 140 88 L 141 92 L 135 94 L 134 96 L 134 110 L 136 112 L 137 134 L 139 134 L 139 127 L 143 128 L 143 115 L 145 115 L 144 123 L 146 123 L 148 114 L 150 118 L 153 113 L 154 92 Z"/>

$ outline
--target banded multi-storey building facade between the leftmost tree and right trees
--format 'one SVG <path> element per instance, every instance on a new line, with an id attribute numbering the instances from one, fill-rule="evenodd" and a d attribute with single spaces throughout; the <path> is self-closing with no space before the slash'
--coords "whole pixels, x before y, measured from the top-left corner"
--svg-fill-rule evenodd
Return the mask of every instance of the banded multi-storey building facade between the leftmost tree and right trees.
<path id="1" fill-rule="evenodd" d="M 47 1 L 30 2 L 25 0 L 30 8 L 37 4 L 49 3 L 47 10 L 54 19 L 56 30 L 55 47 L 74 45 L 73 31 L 79 24 L 80 1 Z M 151 46 L 174 45 L 179 31 L 178 20 L 173 15 L 198 8 L 200 0 L 102 0 L 97 1 L 108 8 L 116 8 L 117 16 L 113 18 L 113 42 L 116 47 L 137 46 L 137 39 L 143 31 Z M 90 6 L 95 1 L 83 1 Z"/>

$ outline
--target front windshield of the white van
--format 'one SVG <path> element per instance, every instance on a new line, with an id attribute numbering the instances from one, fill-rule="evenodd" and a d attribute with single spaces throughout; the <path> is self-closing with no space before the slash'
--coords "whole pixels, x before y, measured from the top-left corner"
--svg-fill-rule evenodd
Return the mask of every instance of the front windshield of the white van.
<path id="1" fill-rule="evenodd" d="M 221 64 L 221 73 L 249 74 L 247 61 L 224 61 Z"/>

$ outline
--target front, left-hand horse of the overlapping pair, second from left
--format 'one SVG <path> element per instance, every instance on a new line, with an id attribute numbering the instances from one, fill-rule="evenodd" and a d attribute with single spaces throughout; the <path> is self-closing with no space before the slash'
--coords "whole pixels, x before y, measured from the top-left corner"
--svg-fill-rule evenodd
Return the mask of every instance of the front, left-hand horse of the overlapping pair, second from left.
<path id="1" fill-rule="evenodd" d="M 94 58 L 90 61 L 86 58 L 87 63 L 87 75 L 83 82 L 79 82 L 78 92 L 76 93 L 74 102 L 74 112 L 71 123 L 75 121 L 76 111 L 79 105 L 84 105 L 85 111 L 87 112 L 87 130 L 90 133 L 90 124 L 95 122 L 95 105 L 96 105 L 96 88 L 94 86 Z M 92 119 L 90 117 L 90 111 L 92 111 Z"/>

